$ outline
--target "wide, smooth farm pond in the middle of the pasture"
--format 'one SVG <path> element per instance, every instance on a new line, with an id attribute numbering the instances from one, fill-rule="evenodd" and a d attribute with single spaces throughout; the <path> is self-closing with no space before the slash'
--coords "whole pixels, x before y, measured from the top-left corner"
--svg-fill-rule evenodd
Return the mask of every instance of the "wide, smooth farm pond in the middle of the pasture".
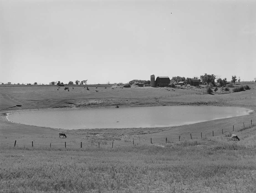
<path id="1" fill-rule="evenodd" d="M 147 106 L 10 113 L 11 122 L 62 129 L 169 127 L 247 115 L 252 110 L 221 106 Z"/>

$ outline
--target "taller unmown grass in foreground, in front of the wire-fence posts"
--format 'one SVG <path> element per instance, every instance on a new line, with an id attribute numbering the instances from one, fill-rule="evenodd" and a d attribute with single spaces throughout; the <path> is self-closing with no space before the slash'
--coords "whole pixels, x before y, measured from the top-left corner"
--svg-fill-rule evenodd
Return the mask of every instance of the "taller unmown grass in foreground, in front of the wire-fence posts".
<path id="1" fill-rule="evenodd" d="M 0 192 L 255 192 L 253 143 L 0 150 Z"/>

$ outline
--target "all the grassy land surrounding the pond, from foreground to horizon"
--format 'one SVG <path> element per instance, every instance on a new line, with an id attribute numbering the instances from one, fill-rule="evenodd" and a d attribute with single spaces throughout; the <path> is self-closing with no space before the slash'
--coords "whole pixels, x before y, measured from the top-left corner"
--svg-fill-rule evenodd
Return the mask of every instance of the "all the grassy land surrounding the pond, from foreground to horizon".
<path id="1" fill-rule="evenodd" d="M 255 192 L 255 84 L 244 92 L 214 95 L 197 88 L 112 85 L 98 85 L 96 92 L 95 86 L 89 91 L 70 87 L 70 92 L 56 86 L 0 86 L 0 192 Z M 4 116 L 117 104 L 240 106 L 254 112 L 177 127 L 90 130 L 35 127 Z M 59 132 L 68 138 L 60 139 Z M 232 133 L 240 141 L 232 141 Z"/>

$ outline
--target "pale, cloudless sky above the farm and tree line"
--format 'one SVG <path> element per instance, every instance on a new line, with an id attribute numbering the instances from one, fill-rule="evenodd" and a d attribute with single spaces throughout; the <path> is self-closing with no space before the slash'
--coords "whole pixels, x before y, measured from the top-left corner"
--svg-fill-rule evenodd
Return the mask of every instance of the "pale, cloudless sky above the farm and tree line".
<path id="1" fill-rule="evenodd" d="M 0 82 L 256 77 L 256 1 L 0 0 Z"/>

